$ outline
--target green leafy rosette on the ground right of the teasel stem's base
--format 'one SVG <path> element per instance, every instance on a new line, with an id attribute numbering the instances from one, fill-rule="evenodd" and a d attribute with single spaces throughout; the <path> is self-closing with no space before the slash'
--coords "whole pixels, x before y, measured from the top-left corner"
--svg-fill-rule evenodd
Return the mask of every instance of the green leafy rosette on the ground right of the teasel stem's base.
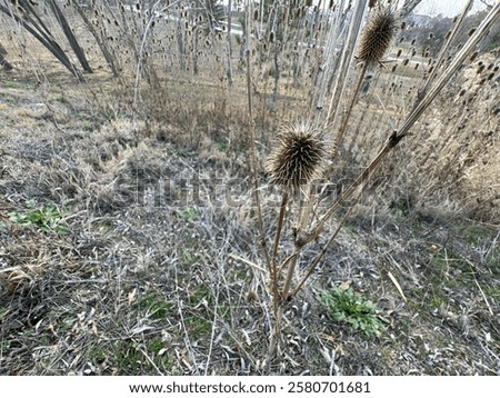
<path id="1" fill-rule="evenodd" d="M 339 322 L 347 322 L 364 336 L 380 336 L 387 320 L 381 310 L 370 300 L 356 293 L 352 288 L 336 287 L 321 293 L 321 304 L 331 317 Z"/>

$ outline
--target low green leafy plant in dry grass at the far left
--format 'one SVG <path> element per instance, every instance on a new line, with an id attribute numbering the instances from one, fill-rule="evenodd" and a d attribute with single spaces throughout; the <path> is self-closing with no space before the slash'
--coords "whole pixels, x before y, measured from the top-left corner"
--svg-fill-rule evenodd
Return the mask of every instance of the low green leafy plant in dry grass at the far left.
<path id="1" fill-rule="evenodd" d="M 43 231 L 54 231 L 59 235 L 70 232 L 61 211 L 53 203 L 38 207 L 34 200 L 26 201 L 24 211 L 11 211 L 9 218 L 22 227 L 38 227 Z"/>

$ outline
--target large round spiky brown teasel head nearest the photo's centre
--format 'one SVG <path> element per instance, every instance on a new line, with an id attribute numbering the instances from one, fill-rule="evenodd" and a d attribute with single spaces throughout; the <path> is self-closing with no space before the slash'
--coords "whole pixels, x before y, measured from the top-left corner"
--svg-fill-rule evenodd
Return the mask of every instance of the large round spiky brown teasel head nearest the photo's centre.
<path id="1" fill-rule="evenodd" d="M 292 125 L 278 135 L 266 170 L 271 183 L 296 189 L 320 177 L 326 156 L 320 131 L 304 123 Z"/>

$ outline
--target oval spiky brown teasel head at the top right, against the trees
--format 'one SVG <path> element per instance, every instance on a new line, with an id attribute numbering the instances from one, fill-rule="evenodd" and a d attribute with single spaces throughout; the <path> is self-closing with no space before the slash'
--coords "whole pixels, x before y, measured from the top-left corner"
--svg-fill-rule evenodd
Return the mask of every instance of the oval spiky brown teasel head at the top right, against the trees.
<path id="1" fill-rule="evenodd" d="M 378 10 L 364 28 L 358 58 L 367 64 L 379 62 L 392 41 L 396 23 L 390 8 Z"/>

